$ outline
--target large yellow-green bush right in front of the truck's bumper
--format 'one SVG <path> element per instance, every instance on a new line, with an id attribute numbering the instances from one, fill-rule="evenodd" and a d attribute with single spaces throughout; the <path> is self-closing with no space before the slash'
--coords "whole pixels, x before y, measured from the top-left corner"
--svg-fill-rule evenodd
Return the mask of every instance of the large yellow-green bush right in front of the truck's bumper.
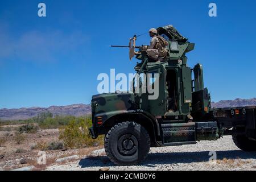
<path id="1" fill-rule="evenodd" d="M 65 147 L 70 148 L 81 148 L 89 146 L 98 146 L 102 145 L 104 140 L 103 136 L 98 137 L 97 139 L 92 139 L 89 135 L 89 118 L 77 118 L 72 120 L 60 130 L 59 139 L 63 140 Z"/>

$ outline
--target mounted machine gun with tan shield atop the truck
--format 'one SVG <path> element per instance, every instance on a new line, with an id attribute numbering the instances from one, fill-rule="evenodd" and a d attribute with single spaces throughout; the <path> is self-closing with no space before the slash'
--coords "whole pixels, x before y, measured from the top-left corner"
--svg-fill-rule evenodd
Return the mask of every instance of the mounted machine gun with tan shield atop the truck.
<path id="1" fill-rule="evenodd" d="M 136 46 L 137 35 L 129 40 L 129 46 L 111 46 L 111 47 L 125 47 L 129 48 L 129 59 L 131 60 L 135 55 L 140 55 L 142 51 L 146 51 L 148 46 Z M 139 51 L 135 51 L 135 48 Z"/>

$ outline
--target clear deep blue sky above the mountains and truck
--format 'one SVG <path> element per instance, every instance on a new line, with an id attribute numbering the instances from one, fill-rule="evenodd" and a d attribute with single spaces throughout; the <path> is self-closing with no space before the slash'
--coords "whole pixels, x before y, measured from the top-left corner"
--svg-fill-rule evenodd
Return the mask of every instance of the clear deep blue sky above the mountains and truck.
<path id="1" fill-rule="evenodd" d="M 47 17 L 39 18 L 38 4 Z M 256 1 L 0 2 L 0 108 L 89 104 L 99 73 L 133 73 L 126 45 L 134 34 L 173 24 L 203 64 L 212 101 L 256 97 Z M 210 2 L 217 17 L 208 16 Z M 137 44 L 148 44 L 148 35 Z"/>

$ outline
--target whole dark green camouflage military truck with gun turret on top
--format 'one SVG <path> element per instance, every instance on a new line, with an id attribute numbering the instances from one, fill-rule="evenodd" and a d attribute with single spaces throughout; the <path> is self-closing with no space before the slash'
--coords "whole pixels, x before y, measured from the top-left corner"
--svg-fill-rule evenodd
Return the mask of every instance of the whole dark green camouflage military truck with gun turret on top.
<path id="1" fill-rule="evenodd" d="M 203 67 L 187 65 L 190 43 L 173 26 L 159 27 L 158 34 L 168 40 L 168 56 L 156 63 L 146 54 L 147 46 L 135 46 L 130 39 L 130 59 L 142 60 L 137 73 L 159 74 L 159 96 L 148 100 L 150 93 L 133 83 L 133 92 L 98 94 L 92 97 L 92 127 L 96 139 L 105 135 L 105 151 L 117 165 L 134 165 L 146 158 L 150 147 L 195 144 L 232 135 L 243 151 L 256 151 L 256 106 L 213 108 L 204 88 Z M 136 52 L 135 49 L 138 49 Z M 147 78 L 148 79 L 148 78 Z M 154 84 L 154 81 L 153 83 Z"/>

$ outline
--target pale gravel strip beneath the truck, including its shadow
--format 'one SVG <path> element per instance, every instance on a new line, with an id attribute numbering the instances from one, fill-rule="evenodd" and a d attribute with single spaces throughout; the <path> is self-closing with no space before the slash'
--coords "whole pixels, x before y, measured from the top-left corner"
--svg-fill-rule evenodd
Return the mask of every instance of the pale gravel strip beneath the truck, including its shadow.
<path id="1" fill-rule="evenodd" d="M 209 152 L 216 151 L 216 163 L 209 162 Z M 54 164 L 46 170 L 256 170 L 256 152 L 241 151 L 226 136 L 217 141 L 201 141 L 197 144 L 151 148 L 146 160 L 138 166 L 115 166 L 107 156 L 75 160 L 66 164 Z"/>

